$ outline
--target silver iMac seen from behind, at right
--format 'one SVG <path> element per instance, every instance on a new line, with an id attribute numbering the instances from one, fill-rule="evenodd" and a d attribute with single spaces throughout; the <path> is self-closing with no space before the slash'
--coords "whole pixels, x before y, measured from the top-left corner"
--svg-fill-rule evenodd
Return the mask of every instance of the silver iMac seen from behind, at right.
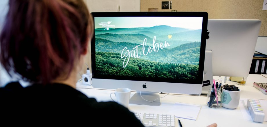
<path id="1" fill-rule="evenodd" d="M 208 19 L 204 82 L 212 85 L 213 75 L 248 77 L 260 26 L 257 19 Z"/>

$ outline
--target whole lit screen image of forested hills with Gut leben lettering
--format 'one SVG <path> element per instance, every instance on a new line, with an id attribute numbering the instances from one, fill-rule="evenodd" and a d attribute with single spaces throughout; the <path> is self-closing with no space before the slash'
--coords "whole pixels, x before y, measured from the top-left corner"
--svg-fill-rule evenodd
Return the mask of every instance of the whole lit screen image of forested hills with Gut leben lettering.
<path id="1" fill-rule="evenodd" d="M 197 79 L 202 17 L 95 17 L 95 75 Z"/>

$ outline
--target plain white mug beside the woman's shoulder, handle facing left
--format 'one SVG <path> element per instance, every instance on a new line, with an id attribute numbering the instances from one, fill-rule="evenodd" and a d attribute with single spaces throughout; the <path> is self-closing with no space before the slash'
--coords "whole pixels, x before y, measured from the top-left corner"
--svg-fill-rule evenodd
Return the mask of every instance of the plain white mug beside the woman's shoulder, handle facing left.
<path id="1" fill-rule="evenodd" d="M 127 107 L 129 106 L 129 100 L 131 95 L 131 89 L 129 88 L 118 88 L 115 92 L 110 94 L 110 98 L 113 100 L 111 95 L 114 94 L 116 96 L 116 102 Z M 113 100 L 114 101 L 114 100 Z"/>

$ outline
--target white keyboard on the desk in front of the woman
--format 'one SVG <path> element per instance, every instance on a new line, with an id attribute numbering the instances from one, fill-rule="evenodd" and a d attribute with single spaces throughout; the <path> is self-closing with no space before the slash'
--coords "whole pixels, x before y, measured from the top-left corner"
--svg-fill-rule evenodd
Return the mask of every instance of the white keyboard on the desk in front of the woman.
<path id="1" fill-rule="evenodd" d="M 175 127 L 175 116 L 169 114 L 134 113 L 144 124 L 150 127 Z"/>

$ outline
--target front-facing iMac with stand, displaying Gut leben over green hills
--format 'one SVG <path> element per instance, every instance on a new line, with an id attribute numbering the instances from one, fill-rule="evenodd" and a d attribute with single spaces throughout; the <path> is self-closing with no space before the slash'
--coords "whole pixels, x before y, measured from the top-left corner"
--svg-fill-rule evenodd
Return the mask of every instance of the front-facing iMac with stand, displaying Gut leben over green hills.
<path id="1" fill-rule="evenodd" d="M 130 88 L 142 105 L 160 105 L 159 92 L 201 94 L 208 13 L 91 14 L 94 88 Z"/>

